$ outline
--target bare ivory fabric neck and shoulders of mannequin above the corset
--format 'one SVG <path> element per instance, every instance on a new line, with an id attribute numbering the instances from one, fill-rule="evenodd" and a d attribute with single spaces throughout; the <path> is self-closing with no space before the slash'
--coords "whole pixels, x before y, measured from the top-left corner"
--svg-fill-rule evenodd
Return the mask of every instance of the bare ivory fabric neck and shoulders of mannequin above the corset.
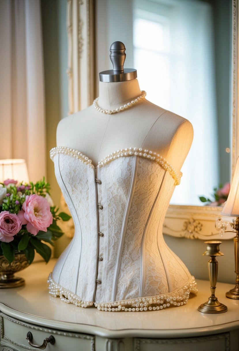
<path id="1" fill-rule="evenodd" d="M 102 82 L 98 106 L 113 110 L 141 95 L 138 80 Z M 160 153 L 180 172 L 193 138 L 191 123 L 145 98 L 126 110 L 104 114 L 91 105 L 60 121 L 57 146 L 67 146 L 87 155 L 93 165 L 125 147 L 142 147 Z"/>

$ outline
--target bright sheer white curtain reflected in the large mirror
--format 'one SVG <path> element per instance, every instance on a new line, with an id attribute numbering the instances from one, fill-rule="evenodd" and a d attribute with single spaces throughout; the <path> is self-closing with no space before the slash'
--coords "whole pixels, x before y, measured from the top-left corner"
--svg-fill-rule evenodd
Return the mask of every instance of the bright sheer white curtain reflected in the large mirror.
<path id="1" fill-rule="evenodd" d="M 145 2 L 146 4 L 146 2 Z M 219 182 L 213 22 L 196 0 L 135 0 L 134 67 L 147 98 L 190 120 L 194 139 L 172 204 L 199 205 Z"/>

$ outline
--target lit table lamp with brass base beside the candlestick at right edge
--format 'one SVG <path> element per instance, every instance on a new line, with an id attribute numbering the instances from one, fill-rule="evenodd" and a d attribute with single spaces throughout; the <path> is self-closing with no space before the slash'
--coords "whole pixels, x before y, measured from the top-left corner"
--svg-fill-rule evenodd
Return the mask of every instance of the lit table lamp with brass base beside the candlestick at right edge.
<path id="1" fill-rule="evenodd" d="M 230 193 L 221 214 L 224 216 L 236 217 L 235 222 L 231 223 L 231 227 L 237 234 L 233 239 L 235 252 L 235 273 L 237 274 L 237 277 L 235 280 L 236 285 L 234 289 L 228 291 L 226 293 L 226 297 L 229 297 L 230 299 L 239 299 L 239 157 L 237 159 Z"/>

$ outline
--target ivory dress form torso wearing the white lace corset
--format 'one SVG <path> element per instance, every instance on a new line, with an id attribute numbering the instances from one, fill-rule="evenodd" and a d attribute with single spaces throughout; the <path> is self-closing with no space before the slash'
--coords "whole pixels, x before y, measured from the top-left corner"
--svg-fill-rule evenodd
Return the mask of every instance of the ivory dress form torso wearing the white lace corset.
<path id="1" fill-rule="evenodd" d="M 100 108 L 128 103 L 112 114 L 91 105 L 57 127 L 51 158 L 75 236 L 49 276 L 49 292 L 104 311 L 184 305 L 196 283 L 162 227 L 192 126 L 147 101 L 137 79 L 100 82 Z"/>

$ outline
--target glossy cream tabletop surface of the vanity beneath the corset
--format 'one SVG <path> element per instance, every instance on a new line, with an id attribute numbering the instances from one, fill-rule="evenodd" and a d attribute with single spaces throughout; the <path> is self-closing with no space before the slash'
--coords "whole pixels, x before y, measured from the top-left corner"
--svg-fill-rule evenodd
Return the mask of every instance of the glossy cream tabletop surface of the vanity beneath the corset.
<path id="1" fill-rule="evenodd" d="M 225 313 L 207 314 L 197 310 L 210 296 L 209 281 L 199 279 L 196 279 L 198 294 L 190 294 L 184 306 L 146 312 L 103 312 L 96 307 L 85 309 L 66 304 L 48 294 L 47 278 L 55 262 L 56 259 L 47 265 L 34 263 L 16 274 L 26 280 L 26 285 L 1 289 L 0 310 L 24 322 L 111 338 L 192 337 L 239 328 L 239 300 L 225 297 L 232 284 L 217 283 L 216 296 L 228 307 Z"/>

